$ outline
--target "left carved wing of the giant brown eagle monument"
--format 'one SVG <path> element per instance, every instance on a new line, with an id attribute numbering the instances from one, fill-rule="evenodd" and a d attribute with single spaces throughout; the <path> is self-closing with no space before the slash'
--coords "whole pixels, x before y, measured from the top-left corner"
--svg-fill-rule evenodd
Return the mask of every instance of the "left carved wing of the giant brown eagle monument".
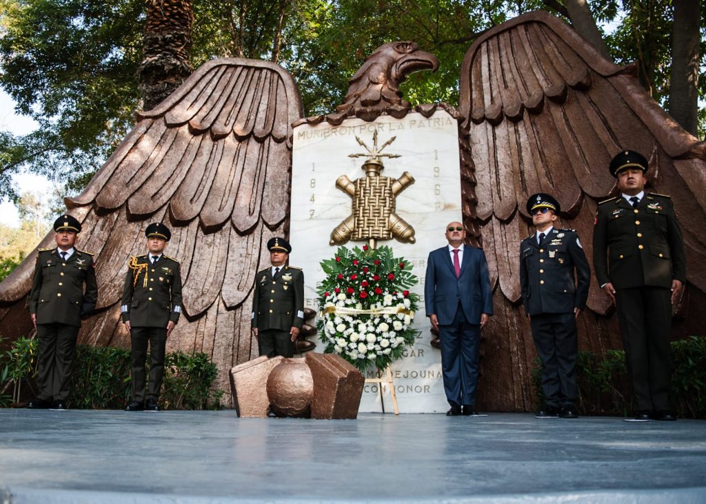
<path id="1" fill-rule="evenodd" d="M 78 248 L 97 258 L 99 312 L 83 323 L 80 342 L 128 344 L 119 323 L 128 256 L 144 253 L 145 227 L 162 221 L 172 229 L 165 253 L 181 262 L 186 313 L 169 349 L 207 352 L 224 376 L 256 354 L 248 296 L 268 263 L 266 242 L 287 231 L 291 124 L 303 115 L 292 76 L 249 59 L 209 61 L 155 109 L 138 113 L 85 191 L 66 198 L 83 222 Z M 52 246 L 52 235 L 41 246 Z M 22 301 L 35 258 L 0 284 L 4 336 L 31 327 Z"/>

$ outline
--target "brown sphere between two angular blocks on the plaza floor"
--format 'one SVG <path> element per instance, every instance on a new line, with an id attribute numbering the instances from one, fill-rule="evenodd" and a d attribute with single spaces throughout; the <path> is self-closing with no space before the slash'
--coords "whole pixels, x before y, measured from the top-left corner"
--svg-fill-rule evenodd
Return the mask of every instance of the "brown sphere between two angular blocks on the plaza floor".
<path id="1" fill-rule="evenodd" d="M 230 383 L 238 416 L 355 419 L 365 378 L 340 356 L 309 353 L 258 357 L 232 368 Z"/>

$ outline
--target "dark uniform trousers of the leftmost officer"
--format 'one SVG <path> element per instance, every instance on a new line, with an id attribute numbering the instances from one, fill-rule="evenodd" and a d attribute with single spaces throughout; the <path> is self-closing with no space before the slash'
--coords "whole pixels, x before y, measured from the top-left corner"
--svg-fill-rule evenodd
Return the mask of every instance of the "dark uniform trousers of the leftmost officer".
<path id="1" fill-rule="evenodd" d="M 37 356 L 37 398 L 43 401 L 65 401 L 68 378 L 76 353 L 76 325 L 59 323 L 37 324 L 39 356 Z"/>

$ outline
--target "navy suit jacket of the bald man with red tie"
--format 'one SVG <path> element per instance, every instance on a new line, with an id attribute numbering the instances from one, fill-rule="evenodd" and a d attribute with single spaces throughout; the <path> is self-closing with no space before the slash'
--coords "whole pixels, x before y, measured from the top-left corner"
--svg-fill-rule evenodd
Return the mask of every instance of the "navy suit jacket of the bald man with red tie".
<path id="1" fill-rule="evenodd" d="M 440 325 L 450 325 L 459 304 L 466 320 L 481 323 L 481 313 L 493 314 L 493 293 L 485 253 L 464 245 L 461 274 L 456 277 L 448 246 L 429 253 L 424 280 L 426 316 L 435 314 Z"/>

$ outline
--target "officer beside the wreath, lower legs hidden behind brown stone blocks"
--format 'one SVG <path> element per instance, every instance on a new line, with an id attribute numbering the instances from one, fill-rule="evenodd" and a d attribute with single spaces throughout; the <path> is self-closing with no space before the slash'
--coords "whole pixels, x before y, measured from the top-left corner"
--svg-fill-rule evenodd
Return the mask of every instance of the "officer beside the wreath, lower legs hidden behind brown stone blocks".
<path id="1" fill-rule="evenodd" d="M 251 328 L 260 355 L 292 357 L 304 323 L 304 272 L 285 265 L 292 251 L 285 239 L 270 239 L 267 248 L 272 267 L 255 279 Z"/>

